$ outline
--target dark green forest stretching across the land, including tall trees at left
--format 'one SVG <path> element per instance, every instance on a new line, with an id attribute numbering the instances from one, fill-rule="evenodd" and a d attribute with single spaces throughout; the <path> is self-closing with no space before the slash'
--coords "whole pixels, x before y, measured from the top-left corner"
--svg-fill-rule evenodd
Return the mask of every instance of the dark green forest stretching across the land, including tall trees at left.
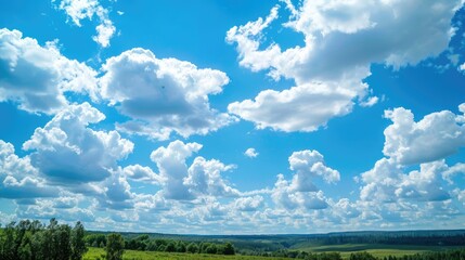
<path id="1" fill-rule="evenodd" d="M 229 238 L 229 239 L 227 239 Z M 231 240 L 232 243 L 228 242 Z M 80 260 L 88 247 L 105 249 L 106 259 L 121 259 L 125 249 L 215 255 L 251 255 L 308 260 L 340 260 L 338 252 L 298 250 L 311 244 L 390 244 L 390 245 L 454 245 L 465 247 L 464 231 L 335 233 L 326 235 L 288 236 L 176 236 L 162 234 L 86 232 L 82 223 L 74 227 L 23 220 L 0 229 L 0 260 Z M 367 252 L 350 255 L 350 260 L 376 259 Z M 425 252 L 382 260 L 465 260 L 465 248 Z"/>

